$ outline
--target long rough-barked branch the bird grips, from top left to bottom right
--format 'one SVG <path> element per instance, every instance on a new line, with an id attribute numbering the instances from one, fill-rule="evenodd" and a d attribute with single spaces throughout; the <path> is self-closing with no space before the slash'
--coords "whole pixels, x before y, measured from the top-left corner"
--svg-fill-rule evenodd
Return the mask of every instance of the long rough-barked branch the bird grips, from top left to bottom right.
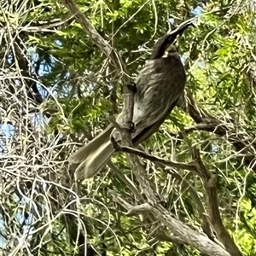
<path id="1" fill-rule="evenodd" d="M 116 67 L 117 71 L 122 74 L 123 84 L 128 84 L 129 80 L 126 72 L 125 76 L 123 75 L 125 70 L 124 62 L 121 60 L 116 50 L 108 45 L 108 43 L 96 32 L 96 29 L 90 25 L 89 20 L 87 20 L 85 16 L 79 11 L 79 9 L 76 7 L 72 0 L 61 0 L 61 3 L 63 3 L 67 7 L 67 9 L 69 9 L 70 12 L 74 15 L 75 19 L 84 28 L 84 32 L 86 32 L 93 40 L 93 42 L 100 49 L 102 49 L 102 52 L 110 58 L 113 66 Z M 131 109 L 131 106 L 129 107 Z M 125 134 L 127 135 L 127 137 L 129 137 L 129 132 L 125 132 Z M 127 140 L 125 138 L 125 141 L 128 142 L 128 146 L 131 145 L 131 143 L 129 143 L 129 139 Z M 154 195 L 154 189 L 148 180 L 146 172 L 143 171 L 143 166 L 141 166 L 137 155 L 131 154 L 130 157 L 133 172 L 137 175 L 137 180 L 139 181 L 143 192 L 147 196 L 147 200 L 153 201 L 155 203 L 156 197 Z M 119 204 L 121 205 L 124 205 L 125 203 L 121 198 L 118 198 L 117 201 L 119 201 Z M 127 210 L 130 210 L 130 213 L 135 211 L 135 209 L 131 209 L 131 205 L 129 205 L 128 203 L 126 203 L 125 207 Z M 166 227 L 169 228 L 175 236 L 180 237 L 184 241 L 184 243 L 188 243 L 190 246 L 198 248 L 202 253 L 205 253 L 209 256 L 230 256 L 229 253 L 227 253 L 222 247 L 219 247 L 217 244 L 211 241 L 207 236 L 201 235 L 195 230 L 190 229 L 179 220 L 172 218 L 170 212 L 167 212 L 166 209 L 161 207 L 160 205 L 158 205 L 157 207 L 152 207 L 148 203 L 146 203 L 143 204 L 142 208 L 137 207 L 137 211 L 145 213 L 146 216 L 148 216 L 149 214 L 150 219 L 159 220 L 160 223 L 166 225 Z"/>

